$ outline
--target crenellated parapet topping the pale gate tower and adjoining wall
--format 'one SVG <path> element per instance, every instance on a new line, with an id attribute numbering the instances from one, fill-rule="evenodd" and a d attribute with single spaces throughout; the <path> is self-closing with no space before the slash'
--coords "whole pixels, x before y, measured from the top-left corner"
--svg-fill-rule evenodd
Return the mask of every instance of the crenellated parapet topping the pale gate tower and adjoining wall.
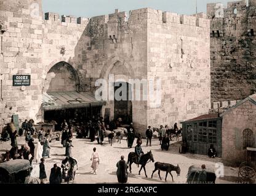
<path id="1" fill-rule="evenodd" d="M 256 1 L 256 0 L 255 0 Z M 92 18 L 76 18 L 72 15 L 62 15 L 58 13 L 47 12 L 45 13 L 45 20 L 58 21 L 59 23 L 74 23 L 86 25 L 90 20 L 97 22 L 98 25 L 106 23 L 118 23 L 134 20 L 151 20 L 156 23 L 176 23 L 181 25 L 199 26 L 206 28 L 209 21 L 207 21 L 206 13 L 198 13 L 194 15 L 179 15 L 178 13 L 162 12 L 162 10 L 154 10 L 151 8 L 143 8 L 137 10 L 130 10 L 129 17 L 126 12 L 119 12 L 118 9 L 109 15 L 100 15 Z"/>

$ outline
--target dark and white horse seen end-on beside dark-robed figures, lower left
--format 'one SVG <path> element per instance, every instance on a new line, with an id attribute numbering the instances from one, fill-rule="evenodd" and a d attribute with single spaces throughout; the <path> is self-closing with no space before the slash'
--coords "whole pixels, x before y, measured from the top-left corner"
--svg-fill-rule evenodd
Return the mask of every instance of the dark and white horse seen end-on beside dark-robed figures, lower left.
<path id="1" fill-rule="evenodd" d="M 76 167 L 76 168 L 75 168 Z M 62 178 L 66 183 L 70 183 L 70 180 L 73 180 L 76 175 L 76 170 L 78 170 L 78 161 L 72 157 L 66 157 L 62 160 Z"/>

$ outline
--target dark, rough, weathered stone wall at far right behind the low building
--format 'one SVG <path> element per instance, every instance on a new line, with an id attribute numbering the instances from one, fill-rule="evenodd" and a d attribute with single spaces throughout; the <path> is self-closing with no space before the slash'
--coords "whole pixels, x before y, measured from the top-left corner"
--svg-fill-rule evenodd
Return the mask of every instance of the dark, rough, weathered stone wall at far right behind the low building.
<path id="1" fill-rule="evenodd" d="M 207 4 L 207 17 L 212 102 L 244 99 L 256 88 L 256 1 Z"/>

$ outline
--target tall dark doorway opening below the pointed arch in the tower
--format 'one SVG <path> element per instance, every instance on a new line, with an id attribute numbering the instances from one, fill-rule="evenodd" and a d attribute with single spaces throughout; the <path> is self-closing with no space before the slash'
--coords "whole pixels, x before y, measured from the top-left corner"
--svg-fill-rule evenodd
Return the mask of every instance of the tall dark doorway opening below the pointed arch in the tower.
<path id="1" fill-rule="evenodd" d="M 114 85 L 114 94 L 119 92 L 120 97 L 126 98 L 117 100 L 116 96 L 114 97 L 114 119 L 122 118 L 122 124 L 130 124 L 132 123 L 132 93 L 129 92 L 129 86 L 131 85 L 125 82 L 116 82 Z M 121 88 L 126 89 L 126 91 L 121 91 Z"/>

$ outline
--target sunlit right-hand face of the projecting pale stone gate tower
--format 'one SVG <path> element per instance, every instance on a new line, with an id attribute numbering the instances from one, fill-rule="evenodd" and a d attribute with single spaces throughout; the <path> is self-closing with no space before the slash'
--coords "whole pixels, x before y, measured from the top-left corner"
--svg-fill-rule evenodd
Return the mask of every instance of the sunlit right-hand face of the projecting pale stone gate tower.
<path id="1" fill-rule="evenodd" d="M 148 105 L 148 124 L 174 126 L 208 113 L 209 25 L 210 21 L 202 13 L 190 16 L 151 10 L 148 78 L 161 78 L 162 102 L 159 108 Z"/>

